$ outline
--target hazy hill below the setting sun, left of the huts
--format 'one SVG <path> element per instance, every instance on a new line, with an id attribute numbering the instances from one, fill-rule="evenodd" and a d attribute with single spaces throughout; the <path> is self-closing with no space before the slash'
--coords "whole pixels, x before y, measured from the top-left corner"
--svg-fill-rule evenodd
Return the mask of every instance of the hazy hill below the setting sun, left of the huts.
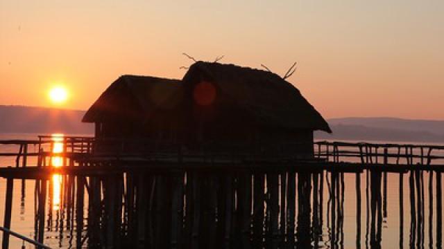
<path id="1" fill-rule="evenodd" d="M 85 111 L 0 105 L 0 133 L 92 134 L 93 124 L 80 122 Z"/>

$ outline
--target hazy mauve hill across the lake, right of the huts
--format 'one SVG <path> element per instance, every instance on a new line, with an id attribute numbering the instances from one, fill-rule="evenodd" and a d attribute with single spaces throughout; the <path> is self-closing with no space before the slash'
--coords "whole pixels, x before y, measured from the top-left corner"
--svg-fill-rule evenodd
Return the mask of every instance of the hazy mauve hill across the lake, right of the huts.
<path id="1" fill-rule="evenodd" d="M 333 133 L 316 132 L 317 139 L 379 140 L 444 143 L 444 121 L 402 118 L 332 118 Z"/>

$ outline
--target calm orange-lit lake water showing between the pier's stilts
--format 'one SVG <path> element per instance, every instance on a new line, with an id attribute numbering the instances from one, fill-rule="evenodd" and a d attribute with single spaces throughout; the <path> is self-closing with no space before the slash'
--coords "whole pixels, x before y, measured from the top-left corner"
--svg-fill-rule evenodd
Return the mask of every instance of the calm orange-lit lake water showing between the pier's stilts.
<path id="1" fill-rule="evenodd" d="M 11 138 L 36 139 L 37 134 L 0 134 L 0 140 Z M 15 149 L 0 147 L 1 151 Z M 15 158 L 0 158 L 0 167 L 6 165 L 15 165 Z M 296 240 L 308 239 L 313 248 L 442 248 L 443 174 L 428 171 L 371 174 L 323 172 L 322 178 L 308 174 L 309 195 L 304 200 L 299 193 L 296 195 Z M 296 177 L 298 183 L 302 181 L 302 176 Z M 380 177 L 381 185 L 377 185 L 380 196 L 372 190 L 373 177 Z M 76 247 L 76 231 L 66 228 L 67 213 L 60 207 L 64 181 L 61 176 L 54 176 L 46 198 L 44 243 L 51 248 Z M 35 181 L 15 180 L 14 186 L 11 230 L 34 238 Z M 4 203 L 5 192 L 6 180 L 0 178 L 0 203 Z M 377 198 L 380 200 L 375 201 Z M 87 203 L 85 199 L 85 228 Z M 0 224 L 4 208 L 0 205 Z M 84 246 L 87 243 L 88 240 Z M 285 244 L 288 245 L 291 243 Z M 20 246 L 21 240 L 10 237 L 10 248 Z M 33 246 L 26 244 L 26 248 Z"/>

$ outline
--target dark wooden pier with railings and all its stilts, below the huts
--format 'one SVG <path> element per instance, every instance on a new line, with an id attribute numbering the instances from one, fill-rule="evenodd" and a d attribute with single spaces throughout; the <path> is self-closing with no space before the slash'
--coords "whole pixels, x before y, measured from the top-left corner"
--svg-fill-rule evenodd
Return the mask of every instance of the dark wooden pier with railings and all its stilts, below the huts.
<path id="1" fill-rule="evenodd" d="M 134 153 L 126 151 L 128 141 L 116 140 L 112 142 L 119 151 L 110 154 L 96 151 L 94 138 L 64 137 L 61 142 L 62 151 L 54 153 L 51 136 L 0 141 L 20 148 L 16 154 L 0 154 L 15 156 L 18 162 L 0 168 L 0 176 L 7 179 L 3 226 L 10 228 L 13 179 L 34 179 L 35 240 L 44 243 L 45 229 L 75 230 L 77 248 L 85 243 L 90 248 L 307 248 L 321 244 L 325 222 L 332 226 L 330 239 L 341 241 L 345 172 L 356 174 L 359 193 L 360 175 L 366 174 L 366 233 L 377 247 L 387 172 L 398 173 L 400 179 L 409 175 L 411 203 L 420 212 L 424 207 L 416 201 L 424 196 L 422 171 L 436 172 L 430 177 L 436 178 L 436 193 L 441 193 L 444 170 L 444 146 L 436 145 L 314 142 L 314 158 L 308 160 L 261 154 L 258 147 L 251 153 L 235 153 L 235 148 L 216 153 L 211 147 L 190 151 L 169 145 L 167 150 L 157 144 Z M 36 151 L 27 149 L 31 145 Z M 61 167 L 52 165 L 55 156 L 62 158 Z M 46 207 L 54 175 L 62 179 L 59 210 Z M 325 187 L 328 207 L 323 206 Z M 441 205 L 440 197 L 436 234 L 442 230 Z M 359 195 L 357 211 L 361 209 Z M 45 217 L 53 217 L 53 212 L 59 222 L 53 224 L 51 218 L 45 227 Z M 412 218 L 424 219 L 416 213 Z M 361 224 L 359 214 L 359 231 Z M 3 248 L 8 248 L 8 234 L 3 234 Z"/>

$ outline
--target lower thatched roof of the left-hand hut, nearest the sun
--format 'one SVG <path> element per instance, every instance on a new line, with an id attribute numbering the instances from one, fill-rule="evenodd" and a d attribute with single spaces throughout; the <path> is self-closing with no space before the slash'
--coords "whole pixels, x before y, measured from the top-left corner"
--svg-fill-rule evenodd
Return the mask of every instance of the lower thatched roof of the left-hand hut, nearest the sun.
<path id="1" fill-rule="evenodd" d="M 166 100 L 180 89 L 180 80 L 123 75 L 103 92 L 82 122 L 146 120 L 155 109 L 172 108 Z"/>

